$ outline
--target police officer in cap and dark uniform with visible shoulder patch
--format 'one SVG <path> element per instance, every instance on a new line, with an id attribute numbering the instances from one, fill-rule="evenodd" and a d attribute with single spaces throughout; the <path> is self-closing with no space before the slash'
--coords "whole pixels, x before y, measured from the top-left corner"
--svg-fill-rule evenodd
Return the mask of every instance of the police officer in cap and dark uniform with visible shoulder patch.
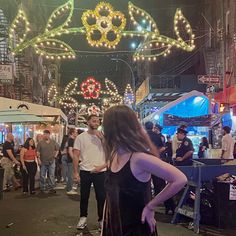
<path id="1" fill-rule="evenodd" d="M 187 131 L 182 128 L 177 129 L 177 138 L 181 141 L 179 148 L 176 150 L 175 165 L 191 166 L 193 159 L 193 143 L 187 138 Z"/>

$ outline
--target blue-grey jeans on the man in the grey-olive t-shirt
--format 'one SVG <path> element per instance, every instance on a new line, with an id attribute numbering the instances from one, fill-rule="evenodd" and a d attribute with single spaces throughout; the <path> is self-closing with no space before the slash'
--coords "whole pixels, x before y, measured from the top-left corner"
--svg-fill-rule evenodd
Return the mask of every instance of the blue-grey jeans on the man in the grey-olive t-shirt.
<path id="1" fill-rule="evenodd" d="M 48 181 L 47 181 L 48 178 Z M 50 190 L 55 187 L 55 160 L 50 164 L 41 164 L 40 190 Z"/>

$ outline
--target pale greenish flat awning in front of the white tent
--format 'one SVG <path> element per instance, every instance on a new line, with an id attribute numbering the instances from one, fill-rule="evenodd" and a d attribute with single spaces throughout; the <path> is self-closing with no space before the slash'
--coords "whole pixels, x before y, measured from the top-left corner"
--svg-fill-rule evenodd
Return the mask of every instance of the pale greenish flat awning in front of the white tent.
<path id="1" fill-rule="evenodd" d="M 0 123 L 39 123 L 46 122 L 42 117 L 21 110 L 0 111 Z"/>

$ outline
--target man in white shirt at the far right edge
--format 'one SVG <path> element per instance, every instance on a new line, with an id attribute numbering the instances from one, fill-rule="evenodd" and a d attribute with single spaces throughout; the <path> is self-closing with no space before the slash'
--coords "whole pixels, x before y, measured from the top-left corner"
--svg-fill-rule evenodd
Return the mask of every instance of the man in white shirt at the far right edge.
<path id="1" fill-rule="evenodd" d="M 230 127 L 224 126 L 223 127 L 223 138 L 222 138 L 222 153 L 221 158 L 223 159 L 233 159 L 234 158 L 234 144 L 235 141 L 230 134 Z"/>

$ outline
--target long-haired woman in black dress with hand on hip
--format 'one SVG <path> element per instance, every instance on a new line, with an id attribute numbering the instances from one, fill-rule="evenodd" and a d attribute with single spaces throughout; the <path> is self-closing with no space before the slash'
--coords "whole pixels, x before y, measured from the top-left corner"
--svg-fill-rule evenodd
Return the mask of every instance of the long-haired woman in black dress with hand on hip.
<path id="1" fill-rule="evenodd" d="M 186 184 L 186 176 L 151 154 L 151 141 L 129 107 L 107 110 L 103 125 L 108 171 L 101 235 L 156 236 L 155 208 Z M 151 175 L 169 183 L 152 200 Z"/>

